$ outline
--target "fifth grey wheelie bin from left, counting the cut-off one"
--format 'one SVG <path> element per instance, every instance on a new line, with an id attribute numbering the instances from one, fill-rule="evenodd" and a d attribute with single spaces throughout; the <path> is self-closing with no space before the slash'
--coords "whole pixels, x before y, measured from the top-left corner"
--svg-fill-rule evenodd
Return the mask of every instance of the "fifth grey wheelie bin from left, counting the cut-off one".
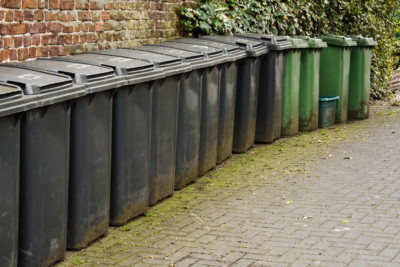
<path id="1" fill-rule="evenodd" d="M 191 70 L 190 65 L 177 57 L 132 49 L 96 53 L 148 61 L 165 75 L 154 81 L 152 90 L 149 205 L 154 205 L 174 192 L 179 80 Z"/>

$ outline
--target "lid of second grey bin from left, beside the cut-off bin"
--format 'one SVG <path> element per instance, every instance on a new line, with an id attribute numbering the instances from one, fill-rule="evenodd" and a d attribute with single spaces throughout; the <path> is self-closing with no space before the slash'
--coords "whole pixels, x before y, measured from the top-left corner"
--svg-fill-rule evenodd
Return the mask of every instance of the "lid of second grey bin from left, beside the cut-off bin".
<path id="1" fill-rule="evenodd" d="M 63 74 L 20 66 L 1 64 L 0 81 L 17 85 L 24 95 L 35 95 L 36 106 L 70 100 L 86 94 L 84 86 L 76 85 Z"/>

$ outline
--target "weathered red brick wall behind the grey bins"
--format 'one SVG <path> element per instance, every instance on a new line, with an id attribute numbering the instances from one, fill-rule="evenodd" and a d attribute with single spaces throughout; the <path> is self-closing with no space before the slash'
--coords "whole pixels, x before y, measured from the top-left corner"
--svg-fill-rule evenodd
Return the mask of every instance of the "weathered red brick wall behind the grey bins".
<path id="1" fill-rule="evenodd" d="M 177 7 L 195 0 L 1 0 L 0 62 L 180 37 Z"/>

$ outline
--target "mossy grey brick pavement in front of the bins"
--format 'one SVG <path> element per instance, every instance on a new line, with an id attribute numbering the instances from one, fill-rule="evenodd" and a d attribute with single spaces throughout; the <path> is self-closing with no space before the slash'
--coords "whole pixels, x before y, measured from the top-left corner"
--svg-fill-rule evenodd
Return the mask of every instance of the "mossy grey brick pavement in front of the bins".
<path id="1" fill-rule="evenodd" d="M 400 108 L 234 155 L 59 266 L 400 266 Z"/>

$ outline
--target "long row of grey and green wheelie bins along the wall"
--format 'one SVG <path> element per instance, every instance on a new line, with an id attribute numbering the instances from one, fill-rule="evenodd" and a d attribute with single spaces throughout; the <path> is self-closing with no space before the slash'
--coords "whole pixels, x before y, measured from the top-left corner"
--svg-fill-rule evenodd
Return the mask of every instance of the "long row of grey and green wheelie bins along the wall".
<path id="1" fill-rule="evenodd" d="M 365 118 L 372 45 L 241 34 L 1 64 L 0 265 L 49 266 L 232 152 L 316 129 L 320 95 Z"/>

